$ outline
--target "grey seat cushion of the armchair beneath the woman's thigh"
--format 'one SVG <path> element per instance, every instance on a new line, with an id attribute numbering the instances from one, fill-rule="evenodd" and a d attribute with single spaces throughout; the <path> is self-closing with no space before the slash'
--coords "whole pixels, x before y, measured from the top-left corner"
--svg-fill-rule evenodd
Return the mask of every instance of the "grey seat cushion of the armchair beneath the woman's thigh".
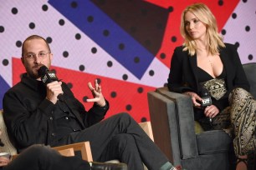
<path id="1" fill-rule="evenodd" d="M 196 135 L 198 154 L 226 153 L 232 138 L 223 130 L 212 130 Z"/>

